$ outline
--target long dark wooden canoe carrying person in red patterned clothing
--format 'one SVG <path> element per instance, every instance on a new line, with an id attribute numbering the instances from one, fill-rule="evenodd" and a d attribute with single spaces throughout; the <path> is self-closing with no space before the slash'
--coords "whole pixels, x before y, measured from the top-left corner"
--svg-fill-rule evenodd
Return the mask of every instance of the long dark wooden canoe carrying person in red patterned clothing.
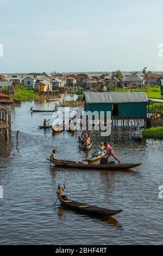
<path id="1" fill-rule="evenodd" d="M 121 164 L 95 164 L 88 162 L 74 162 L 68 160 L 58 160 L 58 159 L 47 159 L 51 163 L 58 167 L 64 168 L 78 168 L 78 169 L 92 169 L 92 170 L 128 170 L 140 166 L 141 163 L 121 163 Z"/>

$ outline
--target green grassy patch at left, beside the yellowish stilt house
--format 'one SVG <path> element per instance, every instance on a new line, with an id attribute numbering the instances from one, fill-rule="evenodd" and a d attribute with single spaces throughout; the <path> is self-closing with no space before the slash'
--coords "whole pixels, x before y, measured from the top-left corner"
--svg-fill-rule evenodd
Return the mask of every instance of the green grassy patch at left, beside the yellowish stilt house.
<path id="1" fill-rule="evenodd" d="M 20 101 L 32 101 L 36 99 L 36 93 L 33 89 L 24 88 L 23 86 L 17 86 L 14 100 Z"/>

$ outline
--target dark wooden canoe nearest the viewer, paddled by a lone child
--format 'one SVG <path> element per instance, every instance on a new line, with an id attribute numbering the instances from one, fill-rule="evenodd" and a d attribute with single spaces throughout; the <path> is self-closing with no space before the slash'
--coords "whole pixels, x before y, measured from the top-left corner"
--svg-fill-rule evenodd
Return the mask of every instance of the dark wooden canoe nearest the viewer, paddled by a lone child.
<path id="1" fill-rule="evenodd" d="M 119 214 L 122 211 L 122 210 L 110 210 L 110 209 L 98 207 L 96 205 L 79 203 L 71 199 L 62 200 L 61 197 L 59 197 L 59 200 L 60 200 L 60 203 L 66 206 L 67 208 L 83 212 L 84 214 L 111 216 L 111 215 Z"/>

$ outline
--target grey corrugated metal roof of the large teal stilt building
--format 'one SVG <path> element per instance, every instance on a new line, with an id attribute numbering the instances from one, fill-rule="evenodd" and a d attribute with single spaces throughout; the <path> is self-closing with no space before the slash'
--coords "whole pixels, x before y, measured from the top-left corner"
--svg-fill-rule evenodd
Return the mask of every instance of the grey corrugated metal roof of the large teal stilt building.
<path id="1" fill-rule="evenodd" d="M 148 102 L 145 93 L 86 93 L 84 92 L 86 103 L 128 103 L 128 102 Z"/>

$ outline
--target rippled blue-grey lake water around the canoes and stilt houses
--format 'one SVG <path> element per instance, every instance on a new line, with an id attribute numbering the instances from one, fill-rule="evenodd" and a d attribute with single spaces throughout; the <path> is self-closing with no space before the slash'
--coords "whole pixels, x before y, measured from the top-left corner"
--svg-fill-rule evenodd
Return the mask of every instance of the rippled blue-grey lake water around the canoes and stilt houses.
<path id="1" fill-rule="evenodd" d="M 133 142 L 129 132 L 112 132 L 108 141 L 123 162 L 142 162 L 133 171 L 68 170 L 50 166 L 46 157 L 52 149 L 57 157 L 84 160 L 77 135 L 64 131 L 37 129 L 51 113 L 33 113 L 35 108 L 52 109 L 51 103 L 22 103 L 12 113 L 12 138 L 4 144 L 0 137 L 1 245 L 117 245 L 162 244 L 163 199 L 158 198 L 162 180 L 163 141 Z M 62 109 L 61 109 L 62 110 Z M 19 130 L 18 147 L 16 131 Z M 92 136 L 93 151 L 102 141 Z M 114 218 L 92 218 L 53 203 L 58 184 L 65 179 L 66 194 L 80 202 L 110 209 L 123 209 Z"/>

